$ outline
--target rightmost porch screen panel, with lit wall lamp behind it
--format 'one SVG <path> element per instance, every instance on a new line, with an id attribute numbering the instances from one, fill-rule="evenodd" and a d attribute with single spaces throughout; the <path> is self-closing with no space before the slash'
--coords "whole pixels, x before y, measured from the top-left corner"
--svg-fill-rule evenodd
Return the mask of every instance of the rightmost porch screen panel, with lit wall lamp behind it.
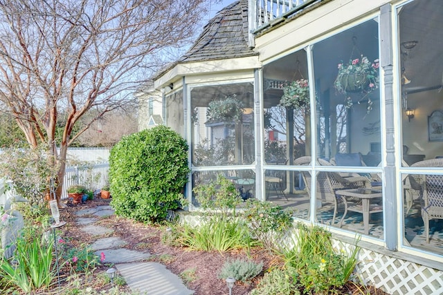
<path id="1" fill-rule="evenodd" d="M 397 15 L 403 241 L 442 255 L 443 2 L 412 1 Z"/>

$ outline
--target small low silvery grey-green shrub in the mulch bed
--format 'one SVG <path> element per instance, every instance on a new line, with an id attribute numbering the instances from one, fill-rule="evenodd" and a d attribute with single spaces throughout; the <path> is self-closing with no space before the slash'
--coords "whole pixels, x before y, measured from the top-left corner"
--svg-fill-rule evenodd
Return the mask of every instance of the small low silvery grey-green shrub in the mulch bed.
<path id="1" fill-rule="evenodd" d="M 219 278 L 226 279 L 233 277 L 235 280 L 241 280 L 246 283 L 255 278 L 262 272 L 263 263 L 255 263 L 250 260 L 228 260 L 224 263 L 219 274 Z"/>

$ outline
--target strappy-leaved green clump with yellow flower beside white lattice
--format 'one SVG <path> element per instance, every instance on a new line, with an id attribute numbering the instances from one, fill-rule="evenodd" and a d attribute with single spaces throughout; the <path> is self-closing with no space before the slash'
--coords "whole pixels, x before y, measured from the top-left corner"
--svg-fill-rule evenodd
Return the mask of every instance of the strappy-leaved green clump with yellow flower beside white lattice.
<path id="1" fill-rule="evenodd" d="M 337 254 L 331 233 L 322 227 L 308 227 L 299 222 L 293 245 L 281 247 L 279 253 L 286 267 L 296 269 L 299 285 L 306 292 L 324 294 L 342 287 L 357 263 L 359 247 L 354 247 L 350 254 Z"/>

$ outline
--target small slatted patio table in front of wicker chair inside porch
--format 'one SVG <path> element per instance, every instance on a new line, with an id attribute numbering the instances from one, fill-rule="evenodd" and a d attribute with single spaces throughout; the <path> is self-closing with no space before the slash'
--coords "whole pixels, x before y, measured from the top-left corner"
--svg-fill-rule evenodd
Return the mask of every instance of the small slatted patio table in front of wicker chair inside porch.
<path id="1" fill-rule="evenodd" d="M 383 206 L 379 204 L 370 204 L 371 200 L 378 199 L 383 196 L 379 189 L 343 189 L 336 191 L 336 196 L 342 196 L 345 202 L 345 213 L 341 218 L 339 226 L 346 217 L 347 211 L 353 211 L 363 214 L 364 233 L 369 234 L 369 216 L 372 213 L 383 212 Z M 351 204 L 347 206 L 345 197 L 356 198 L 361 200 L 361 204 Z"/>

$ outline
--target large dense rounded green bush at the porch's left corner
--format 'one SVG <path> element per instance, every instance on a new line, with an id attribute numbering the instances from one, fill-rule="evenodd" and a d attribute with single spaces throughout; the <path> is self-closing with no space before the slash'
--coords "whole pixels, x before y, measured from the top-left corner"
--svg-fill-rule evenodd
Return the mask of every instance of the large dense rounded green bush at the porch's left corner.
<path id="1" fill-rule="evenodd" d="M 123 137 L 109 155 L 111 206 L 141 222 L 164 220 L 180 207 L 189 171 L 188 144 L 172 129 L 156 126 Z"/>

